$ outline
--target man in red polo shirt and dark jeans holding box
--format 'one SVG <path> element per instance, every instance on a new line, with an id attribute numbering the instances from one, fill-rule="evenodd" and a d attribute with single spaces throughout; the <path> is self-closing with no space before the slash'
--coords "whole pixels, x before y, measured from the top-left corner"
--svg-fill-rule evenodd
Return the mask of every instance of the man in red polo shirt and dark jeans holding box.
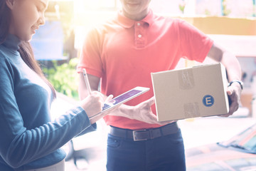
<path id="1" fill-rule="evenodd" d="M 151 73 L 172 70 L 181 58 L 203 62 L 208 56 L 228 71 L 230 112 L 238 110 L 242 90 L 237 58 L 206 34 L 180 19 L 157 16 L 150 0 L 120 0 L 122 11 L 92 29 L 85 38 L 78 65 L 80 98 L 87 96 L 82 77 L 86 68 L 92 90 L 120 95 L 136 86 L 151 88 L 112 115 L 107 140 L 107 170 L 186 170 L 183 138 L 175 121 L 158 123 Z"/>

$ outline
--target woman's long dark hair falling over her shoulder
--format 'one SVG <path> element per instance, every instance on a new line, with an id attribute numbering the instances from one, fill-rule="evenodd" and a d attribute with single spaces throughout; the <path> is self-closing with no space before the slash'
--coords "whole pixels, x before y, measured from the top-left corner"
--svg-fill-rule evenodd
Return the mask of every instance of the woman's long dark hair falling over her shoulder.
<path id="1" fill-rule="evenodd" d="M 10 21 L 11 10 L 6 5 L 6 0 L 0 0 L 0 44 L 4 43 L 4 41 L 6 40 L 6 36 L 8 36 L 9 34 Z M 35 71 L 38 74 L 38 76 L 40 76 L 43 79 L 43 81 L 45 81 L 48 84 L 50 89 L 53 91 L 53 96 L 55 98 L 55 89 L 43 75 L 43 71 L 41 70 L 38 62 L 36 61 L 33 55 L 33 49 L 31 47 L 31 44 L 26 41 L 21 41 L 18 52 L 21 54 L 21 58 L 28 65 L 28 67 Z"/>

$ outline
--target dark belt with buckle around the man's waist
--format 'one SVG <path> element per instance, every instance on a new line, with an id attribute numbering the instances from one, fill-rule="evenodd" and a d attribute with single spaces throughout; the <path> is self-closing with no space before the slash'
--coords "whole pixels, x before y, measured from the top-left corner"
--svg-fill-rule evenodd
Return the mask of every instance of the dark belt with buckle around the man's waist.
<path id="1" fill-rule="evenodd" d="M 178 130 L 179 128 L 177 123 L 170 123 L 159 128 L 152 128 L 146 130 L 127 130 L 110 126 L 110 135 L 119 138 L 128 138 L 134 141 L 141 141 L 151 140 L 154 138 L 159 138 L 161 136 L 178 133 Z"/>

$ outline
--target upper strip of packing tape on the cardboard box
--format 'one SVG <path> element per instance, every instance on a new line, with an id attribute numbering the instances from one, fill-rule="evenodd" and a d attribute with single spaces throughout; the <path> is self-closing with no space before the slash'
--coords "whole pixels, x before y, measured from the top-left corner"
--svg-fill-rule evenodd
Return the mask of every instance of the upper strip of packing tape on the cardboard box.
<path id="1" fill-rule="evenodd" d="M 178 85 L 181 90 L 189 90 L 195 86 L 192 69 L 178 71 Z"/>

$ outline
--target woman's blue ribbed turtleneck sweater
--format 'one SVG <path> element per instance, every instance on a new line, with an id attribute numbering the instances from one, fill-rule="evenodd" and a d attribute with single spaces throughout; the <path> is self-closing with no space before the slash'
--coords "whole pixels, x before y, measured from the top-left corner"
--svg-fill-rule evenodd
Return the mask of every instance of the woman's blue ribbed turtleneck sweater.
<path id="1" fill-rule="evenodd" d="M 94 127 L 85 110 L 69 110 L 50 122 L 53 93 L 18 53 L 21 41 L 9 35 L 0 45 L 0 170 L 29 170 L 65 158 L 60 149 Z"/>

